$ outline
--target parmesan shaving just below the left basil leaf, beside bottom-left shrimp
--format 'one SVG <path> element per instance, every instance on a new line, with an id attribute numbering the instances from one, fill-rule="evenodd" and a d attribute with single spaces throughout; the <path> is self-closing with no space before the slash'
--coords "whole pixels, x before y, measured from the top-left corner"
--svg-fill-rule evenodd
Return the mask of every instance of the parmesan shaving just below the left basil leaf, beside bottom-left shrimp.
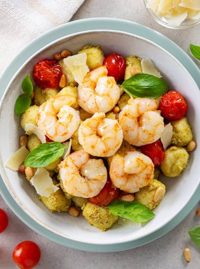
<path id="1" fill-rule="evenodd" d="M 59 190 L 59 188 L 53 184 L 52 178 L 45 168 L 37 168 L 36 173 L 31 179 L 31 183 L 40 196 L 49 197 L 52 193 Z"/>

